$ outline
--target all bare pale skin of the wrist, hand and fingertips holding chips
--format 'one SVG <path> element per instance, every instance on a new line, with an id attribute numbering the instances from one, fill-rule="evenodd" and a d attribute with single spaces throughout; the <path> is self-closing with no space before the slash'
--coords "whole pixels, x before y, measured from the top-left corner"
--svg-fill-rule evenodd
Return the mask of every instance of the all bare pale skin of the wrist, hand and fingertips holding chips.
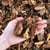
<path id="1" fill-rule="evenodd" d="M 6 50 L 8 47 L 10 47 L 11 45 L 14 44 L 18 44 L 24 40 L 26 40 L 25 38 L 21 38 L 21 37 L 16 37 L 14 35 L 14 30 L 15 30 L 15 26 L 19 21 L 24 20 L 23 17 L 18 17 L 12 21 L 10 21 L 8 23 L 8 25 L 6 26 L 6 28 L 4 29 L 3 34 L 0 36 L 0 50 Z M 42 20 L 43 21 L 43 20 Z M 40 22 L 40 21 L 39 21 Z M 43 23 L 44 24 L 44 23 Z M 40 25 L 43 26 L 43 25 Z M 33 26 L 34 27 L 34 26 Z M 40 27 L 41 28 L 41 27 Z M 43 27 L 44 28 L 44 27 Z M 38 30 L 38 33 L 36 32 L 36 34 L 39 34 L 43 31 L 43 28 L 41 28 L 40 30 Z"/>

